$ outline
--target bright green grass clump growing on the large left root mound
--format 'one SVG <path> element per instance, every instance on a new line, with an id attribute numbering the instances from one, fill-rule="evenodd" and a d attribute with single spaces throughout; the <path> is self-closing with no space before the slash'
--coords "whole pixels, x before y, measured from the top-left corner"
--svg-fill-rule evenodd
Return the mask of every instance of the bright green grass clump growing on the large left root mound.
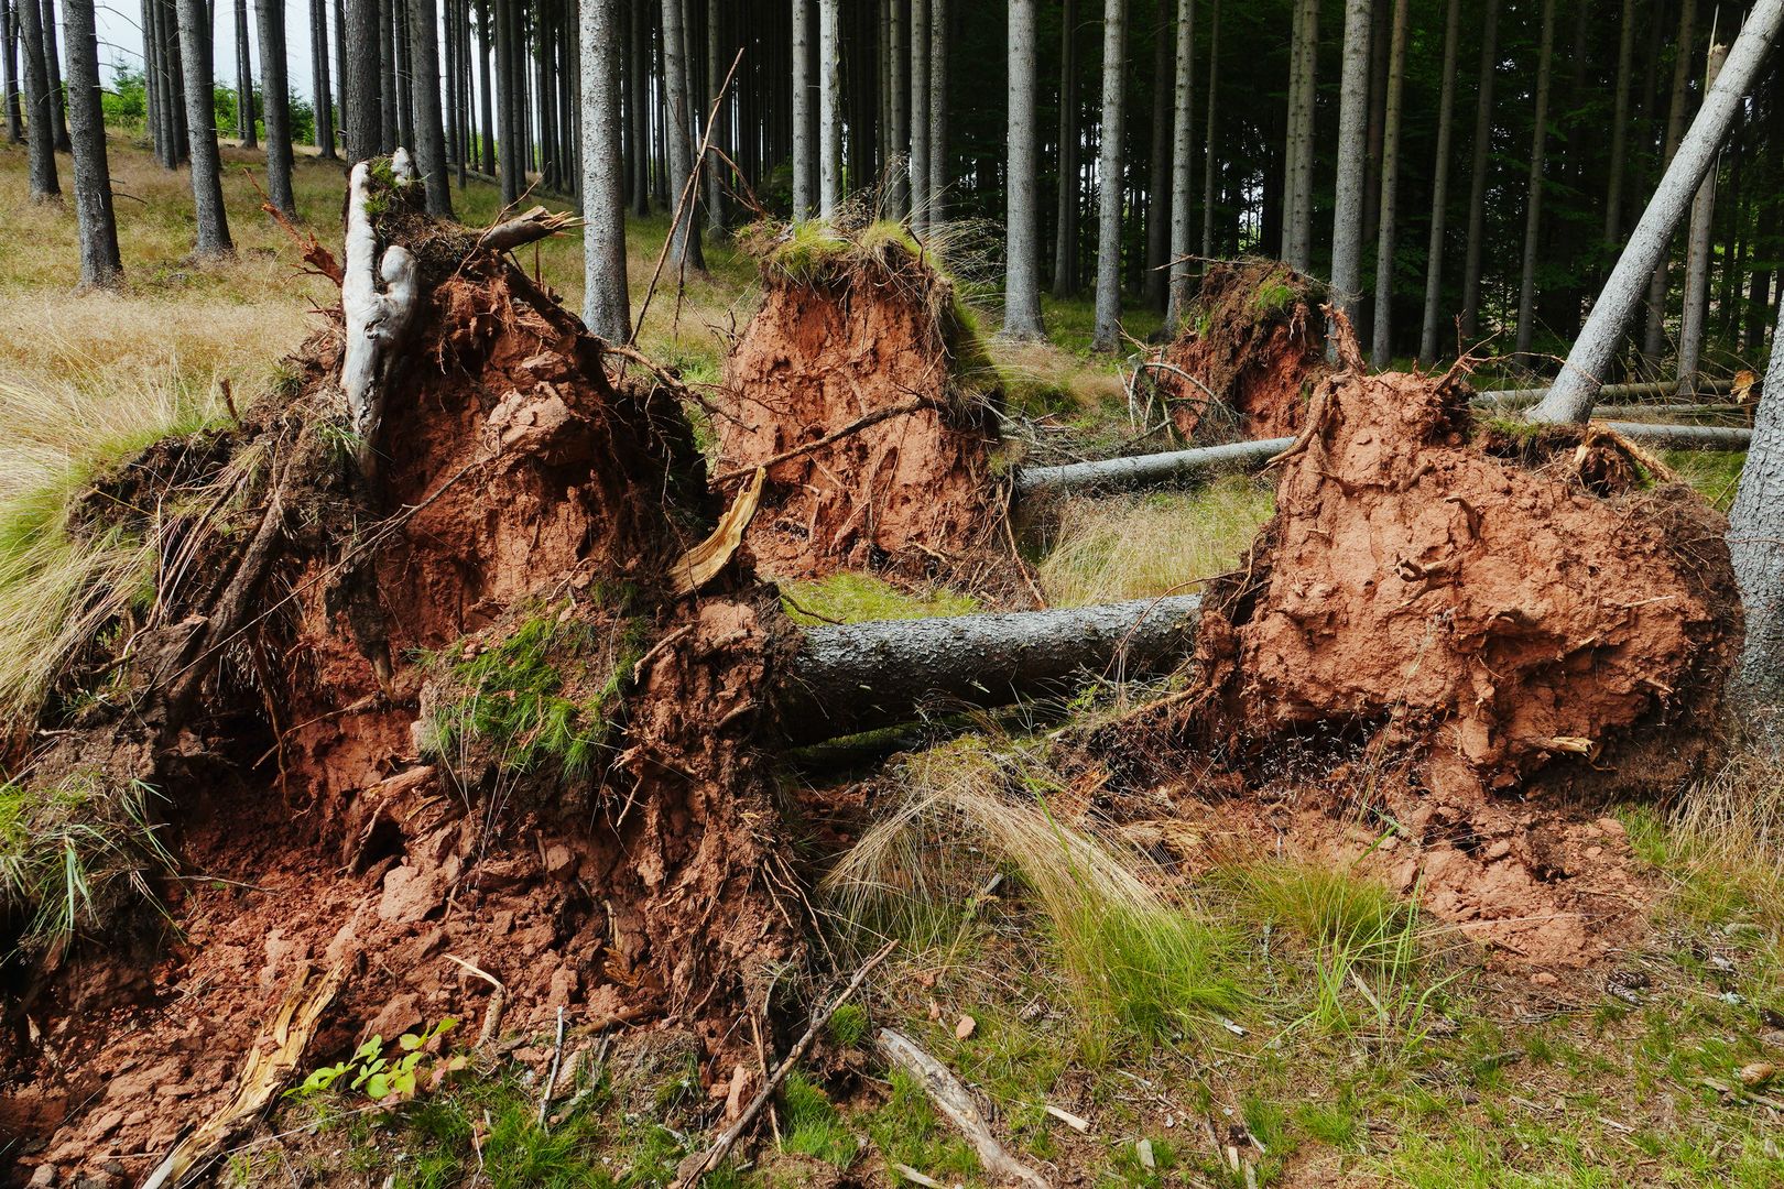
<path id="1" fill-rule="evenodd" d="M 528 772 L 555 761 L 582 779 L 598 768 L 632 667 L 644 656 L 633 619 L 564 620 L 541 615 L 494 647 L 462 660 L 435 654 L 453 697 L 434 711 L 430 750 L 492 749 L 503 768 Z"/>

